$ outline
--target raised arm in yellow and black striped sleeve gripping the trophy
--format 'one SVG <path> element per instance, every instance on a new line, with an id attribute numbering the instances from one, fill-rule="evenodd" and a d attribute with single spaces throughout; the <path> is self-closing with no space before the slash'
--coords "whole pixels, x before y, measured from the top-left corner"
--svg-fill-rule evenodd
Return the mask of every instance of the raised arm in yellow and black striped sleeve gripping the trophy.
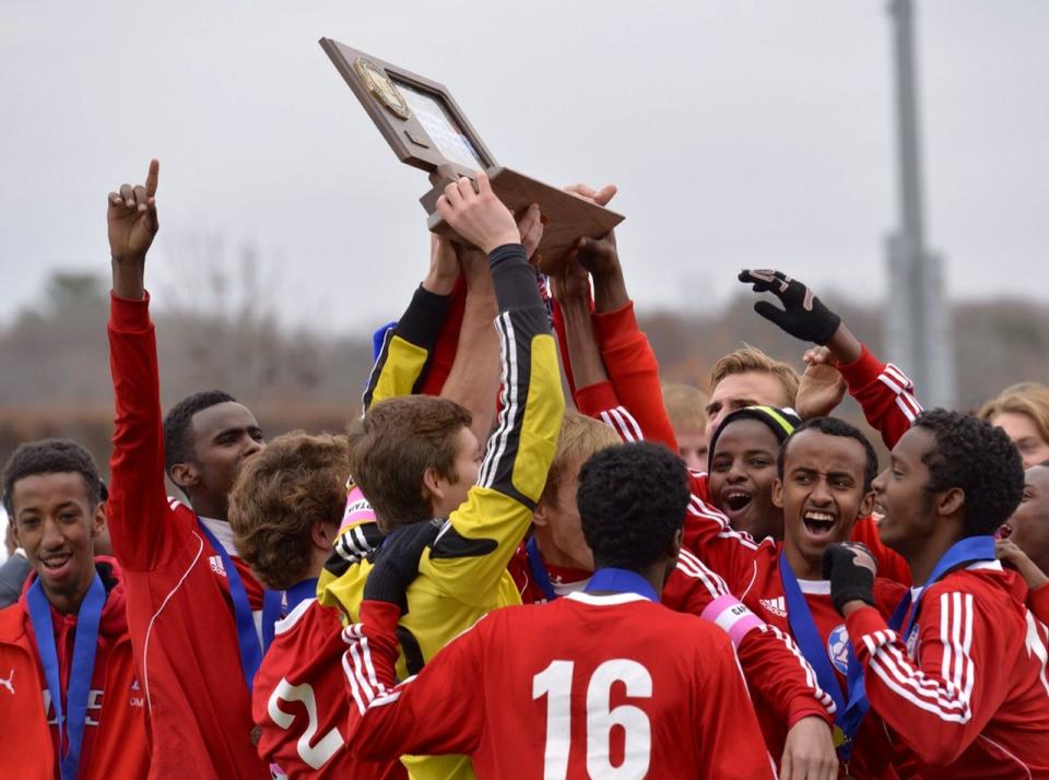
<path id="1" fill-rule="evenodd" d="M 483 604 L 531 522 L 554 457 L 564 398 L 546 310 L 514 216 L 483 173 L 478 189 L 461 179 L 446 188 L 437 205 L 460 235 L 488 255 L 499 307 L 499 416 L 478 485 L 451 513 L 420 572 L 448 594 Z"/>

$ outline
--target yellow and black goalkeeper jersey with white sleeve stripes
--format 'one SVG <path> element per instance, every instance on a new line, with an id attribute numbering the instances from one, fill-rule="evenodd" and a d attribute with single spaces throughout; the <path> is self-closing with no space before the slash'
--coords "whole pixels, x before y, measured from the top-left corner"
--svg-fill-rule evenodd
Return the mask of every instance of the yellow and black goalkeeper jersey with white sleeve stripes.
<path id="1" fill-rule="evenodd" d="M 565 404 L 556 345 L 522 247 L 496 249 L 492 274 L 499 300 L 495 327 L 504 378 L 498 421 L 487 440 L 478 484 L 423 553 L 419 577 L 408 589 L 409 611 L 398 628 L 401 678 L 417 674 L 445 645 L 488 612 L 521 603 L 506 567 L 531 524 L 561 430 Z M 427 352 L 426 345 L 413 343 L 402 332 L 388 334 L 366 401 L 410 393 Z M 372 564 L 363 560 L 338 579 L 328 574 L 319 583 L 321 602 L 339 605 L 349 619 L 358 619 L 370 569 Z M 419 780 L 473 777 L 464 756 L 405 756 L 402 760 Z"/>

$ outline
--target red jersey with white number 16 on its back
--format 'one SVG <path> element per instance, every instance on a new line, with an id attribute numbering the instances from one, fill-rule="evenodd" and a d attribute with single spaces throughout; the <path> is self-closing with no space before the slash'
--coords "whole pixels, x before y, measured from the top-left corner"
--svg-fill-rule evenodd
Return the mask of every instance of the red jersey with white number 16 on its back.
<path id="1" fill-rule="evenodd" d="M 351 709 L 362 757 L 464 753 L 484 778 L 774 775 L 724 633 L 634 593 L 491 613 L 392 694 L 345 666 L 370 699 Z"/>

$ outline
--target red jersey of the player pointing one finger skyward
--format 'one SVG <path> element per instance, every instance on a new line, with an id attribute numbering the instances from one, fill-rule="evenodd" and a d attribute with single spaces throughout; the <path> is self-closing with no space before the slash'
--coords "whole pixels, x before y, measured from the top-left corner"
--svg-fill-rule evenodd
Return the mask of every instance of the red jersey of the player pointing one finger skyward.
<path id="1" fill-rule="evenodd" d="M 113 297 L 109 364 L 117 415 L 106 515 L 151 718 L 150 777 L 267 778 L 225 568 L 196 513 L 165 493 L 149 297 Z M 258 610 L 261 588 L 238 571 Z"/>

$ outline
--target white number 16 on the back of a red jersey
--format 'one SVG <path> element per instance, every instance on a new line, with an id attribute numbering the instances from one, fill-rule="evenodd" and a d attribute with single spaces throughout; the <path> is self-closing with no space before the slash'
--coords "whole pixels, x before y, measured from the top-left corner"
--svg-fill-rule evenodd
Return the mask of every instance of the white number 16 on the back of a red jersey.
<path id="1" fill-rule="evenodd" d="M 552 661 L 532 677 L 532 699 L 546 697 L 544 780 L 565 780 L 571 749 L 571 677 L 575 663 Z M 630 780 L 648 773 L 652 725 L 645 711 L 633 705 L 609 707 L 612 686 L 623 683 L 630 698 L 651 698 L 652 676 L 637 661 L 613 659 L 598 666 L 587 685 L 587 772 L 590 777 Z M 624 758 L 612 766 L 612 729 L 624 732 Z"/>

